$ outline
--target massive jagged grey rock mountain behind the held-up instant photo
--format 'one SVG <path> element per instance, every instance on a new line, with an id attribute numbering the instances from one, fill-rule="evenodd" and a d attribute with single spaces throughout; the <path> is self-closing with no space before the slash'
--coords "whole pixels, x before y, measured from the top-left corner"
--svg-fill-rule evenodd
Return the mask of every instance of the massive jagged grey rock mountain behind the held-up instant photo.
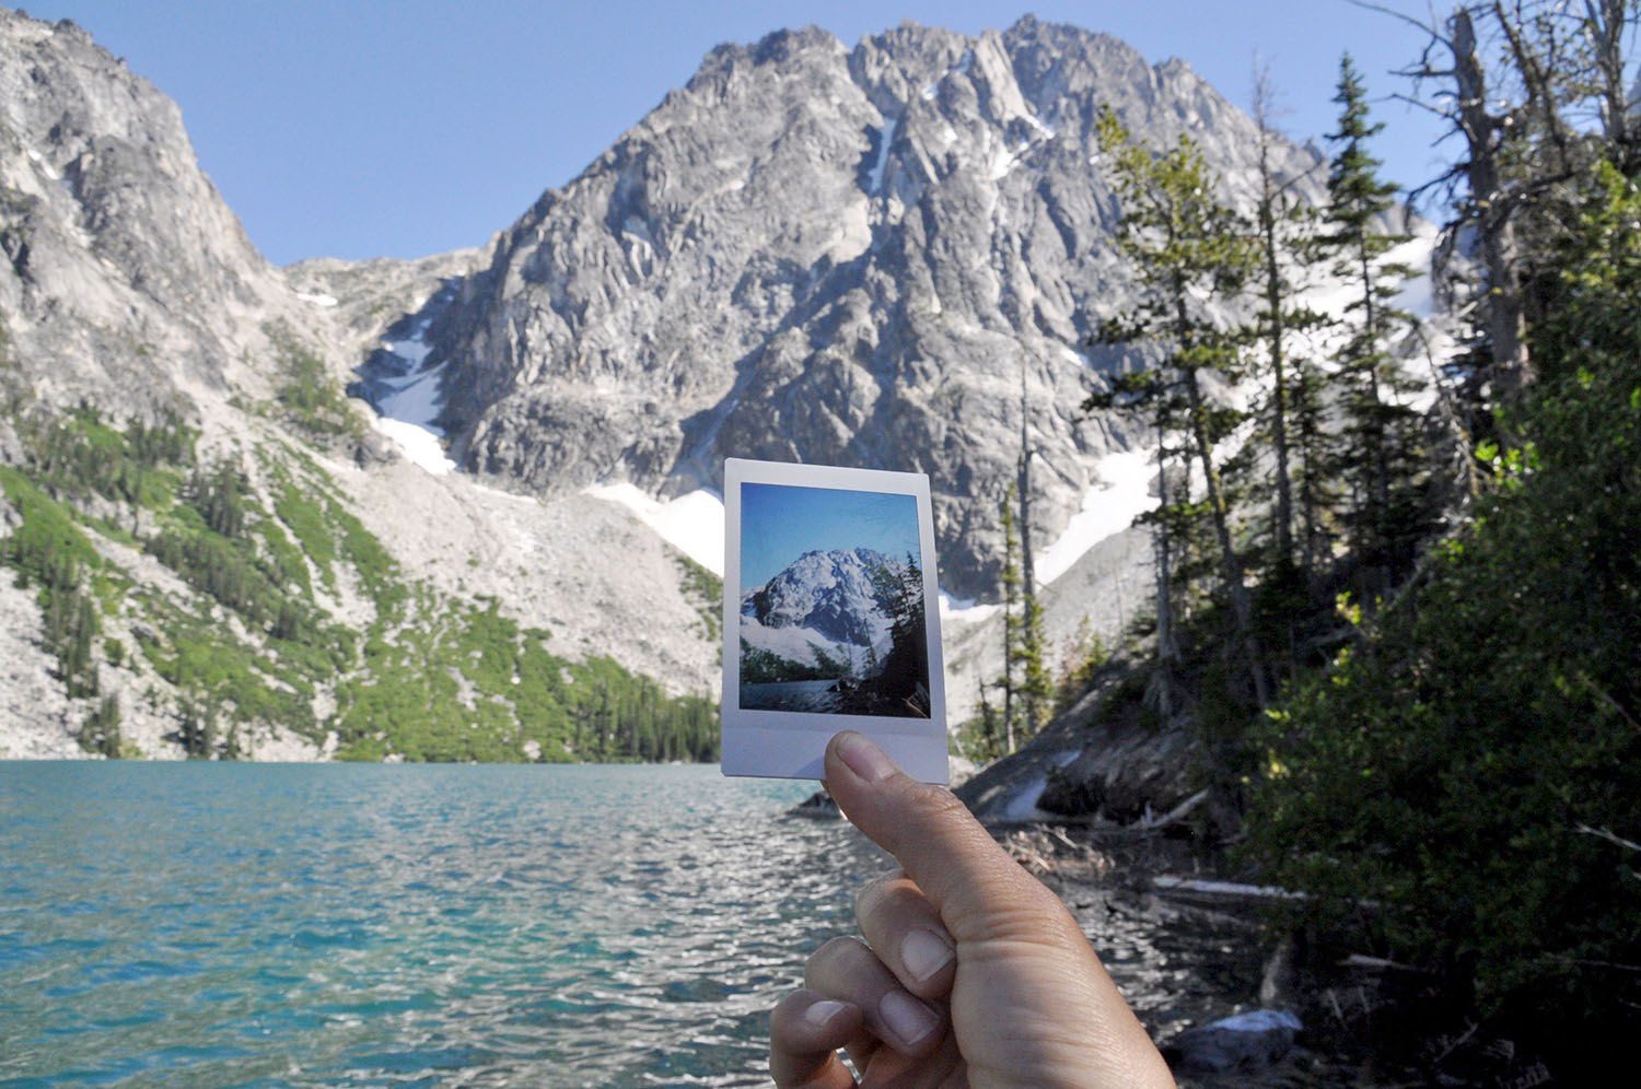
<path id="1" fill-rule="evenodd" d="M 1136 441 L 1078 410 L 1122 366 L 1088 333 L 1132 298 L 1101 105 L 1159 144 L 1191 134 L 1252 192 L 1249 118 L 1103 34 L 1026 18 L 720 46 L 433 325 L 459 459 L 542 494 L 715 487 L 724 456 L 924 471 L 942 586 L 988 594 L 1022 403 L 1045 540 Z"/>

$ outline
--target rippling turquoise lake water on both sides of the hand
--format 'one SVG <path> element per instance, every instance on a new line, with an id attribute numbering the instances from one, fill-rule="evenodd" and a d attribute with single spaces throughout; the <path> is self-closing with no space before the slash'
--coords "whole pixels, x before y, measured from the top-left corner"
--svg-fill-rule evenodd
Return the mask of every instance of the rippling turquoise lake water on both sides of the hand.
<path id="1" fill-rule="evenodd" d="M 784 817 L 811 789 L 0 763 L 0 1082 L 765 1084 L 770 1007 L 888 866 Z M 1216 1012 L 1224 936 L 1076 907 L 1147 1022 Z"/>

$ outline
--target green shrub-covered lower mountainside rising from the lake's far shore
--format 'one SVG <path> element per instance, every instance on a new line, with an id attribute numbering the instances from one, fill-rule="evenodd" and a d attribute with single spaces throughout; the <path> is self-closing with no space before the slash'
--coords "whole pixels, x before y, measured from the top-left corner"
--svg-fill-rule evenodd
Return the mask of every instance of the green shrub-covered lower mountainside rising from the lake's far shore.
<path id="1" fill-rule="evenodd" d="M 300 441 L 267 430 L 207 456 L 176 420 L 13 423 L 25 456 L 0 466 L 15 523 L 0 564 L 39 600 L 89 750 L 131 754 L 112 676 L 192 756 L 243 754 L 271 727 L 345 759 L 715 756 L 707 700 L 561 658 L 502 602 L 409 577 Z"/>

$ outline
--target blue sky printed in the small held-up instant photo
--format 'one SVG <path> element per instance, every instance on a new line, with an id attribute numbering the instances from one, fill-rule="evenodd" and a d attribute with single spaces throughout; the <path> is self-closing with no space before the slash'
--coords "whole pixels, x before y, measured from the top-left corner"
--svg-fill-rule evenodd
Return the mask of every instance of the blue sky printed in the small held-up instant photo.
<path id="1" fill-rule="evenodd" d="M 740 485 L 740 592 L 763 586 L 809 551 L 873 548 L 886 556 L 917 544 L 917 497 L 791 484 Z"/>

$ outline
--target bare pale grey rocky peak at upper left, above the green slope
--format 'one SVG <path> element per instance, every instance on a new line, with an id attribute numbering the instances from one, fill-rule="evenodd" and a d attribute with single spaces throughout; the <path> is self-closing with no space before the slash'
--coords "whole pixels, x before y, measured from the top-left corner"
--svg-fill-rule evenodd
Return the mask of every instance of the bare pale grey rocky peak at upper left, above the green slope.
<path id="1" fill-rule="evenodd" d="M 174 102 L 72 23 L 0 10 L 0 315 L 31 392 L 126 412 L 266 382 L 263 325 L 300 318 Z"/>

